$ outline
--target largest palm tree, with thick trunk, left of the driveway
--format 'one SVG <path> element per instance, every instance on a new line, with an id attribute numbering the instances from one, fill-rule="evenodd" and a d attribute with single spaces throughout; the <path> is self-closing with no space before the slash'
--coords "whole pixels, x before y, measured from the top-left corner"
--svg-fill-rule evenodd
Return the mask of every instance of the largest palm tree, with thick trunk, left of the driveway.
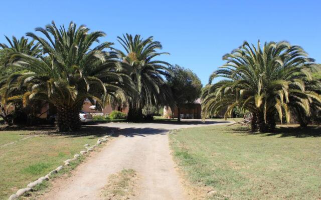
<path id="1" fill-rule="evenodd" d="M 79 111 L 85 99 L 103 107 L 114 98 L 126 101 L 126 91 L 130 88 L 129 76 L 121 72 L 114 52 L 105 51 L 113 43 L 102 42 L 92 47 L 104 36 L 102 31 L 89 32 L 89 28 L 70 22 L 67 30 L 58 28 L 54 22 L 27 36 L 39 42 L 42 55 L 38 57 L 26 53 L 13 53 L 16 60 L 11 67 L 21 72 L 12 74 L 6 83 L 5 99 L 22 99 L 27 105 L 32 99 L 46 100 L 57 107 L 56 125 L 59 131 L 73 131 L 80 127 Z M 25 86 L 22 95 L 10 96 L 12 89 Z"/>

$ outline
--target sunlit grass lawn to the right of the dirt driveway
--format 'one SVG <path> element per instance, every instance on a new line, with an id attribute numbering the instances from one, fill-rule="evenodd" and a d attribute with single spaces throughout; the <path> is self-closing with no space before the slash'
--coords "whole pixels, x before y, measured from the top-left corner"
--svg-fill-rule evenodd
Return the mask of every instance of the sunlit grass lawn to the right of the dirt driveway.
<path id="1" fill-rule="evenodd" d="M 204 199 L 321 199 L 320 127 L 255 134 L 238 125 L 205 126 L 177 130 L 170 141 Z"/>

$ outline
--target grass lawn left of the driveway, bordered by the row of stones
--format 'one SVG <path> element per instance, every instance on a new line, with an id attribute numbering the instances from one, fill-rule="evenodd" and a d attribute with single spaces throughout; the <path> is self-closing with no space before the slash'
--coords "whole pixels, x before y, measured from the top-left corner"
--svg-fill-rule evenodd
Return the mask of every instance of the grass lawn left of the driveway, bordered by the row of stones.
<path id="1" fill-rule="evenodd" d="M 85 129 L 73 135 L 30 130 L 0 131 L 0 199 L 8 199 L 29 182 L 73 158 L 84 149 L 84 144 L 92 145 L 97 137 L 107 133 L 106 129 Z M 24 137 L 28 138 L 21 140 Z M 15 142 L 8 144 L 12 141 Z"/>

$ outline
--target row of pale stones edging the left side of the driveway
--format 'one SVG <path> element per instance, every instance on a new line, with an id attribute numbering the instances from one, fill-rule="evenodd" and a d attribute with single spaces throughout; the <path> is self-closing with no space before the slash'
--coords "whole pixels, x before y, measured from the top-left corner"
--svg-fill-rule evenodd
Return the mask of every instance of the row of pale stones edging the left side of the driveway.
<path id="1" fill-rule="evenodd" d="M 97 147 L 99 144 L 101 144 L 102 142 L 105 142 L 105 141 L 108 141 L 108 137 L 112 136 L 113 135 L 113 130 L 111 131 L 111 133 L 109 135 L 105 135 L 101 138 L 99 138 L 96 142 L 96 144 L 94 144 L 93 146 L 89 147 L 89 144 L 85 144 L 85 148 L 86 150 L 82 150 L 80 151 L 79 153 L 80 154 L 75 154 L 74 157 L 72 159 L 67 159 L 64 161 L 64 165 L 69 165 L 71 161 L 77 159 L 78 157 L 80 157 L 81 155 L 85 154 L 85 153 L 88 153 L 89 151 L 93 151 L 93 149 L 95 147 Z M 39 135 L 38 135 L 39 136 Z M 14 141 L 14 142 L 18 142 L 18 141 L 21 141 L 23 139 L 27 139 L 27 138 L 30 138 L 30 137 L 33 137 L 33 136 L 29 136 L 29 137 L 25 137 L 25 138 L 22 138 L 20 140 L 17 140 L 17 141 Z M 12 142 L 11 142 L 12 143 Z M 11 144 L 11 143 L 8 143 Z M 12 194 L 10 197 L 9 197 L 9 200 L 14 200 L 14 199 L 18 199 L 20 196 L 23 196 L 25 193 L 29 192 L 29 191 L 32 191 L 32 188 L 35 187 L 36 185 L 42 183 L 44 180 L 49 180 L 50 177 L 56 173 L 58 173 L 58 171 L 60 171 L 61 169 L 63 169 L 64 165 L 60 165 L 58 166 L 56 169 L 50 171 L 47 175 L 45 176 L 42 176 L 40 178 L 38 178 L 37 180 L 33 181 L 33 182 L 30 182 L 26 188 L 21 188 L 19 189 L 15 194 Z"/>

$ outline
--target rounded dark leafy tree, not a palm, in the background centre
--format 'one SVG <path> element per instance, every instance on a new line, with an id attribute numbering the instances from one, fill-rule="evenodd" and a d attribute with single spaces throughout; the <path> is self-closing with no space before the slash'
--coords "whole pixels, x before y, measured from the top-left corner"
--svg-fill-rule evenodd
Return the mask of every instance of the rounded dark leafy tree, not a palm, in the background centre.
<path id="1" fill-rule="evenodd" d="M 170 67 L 172 72 L 168 76 L 168 84 L 173 92 L 174 103 L 178 109 L 178 118 L 181 120 L 181 107 L 186 103 L 194 103 L 200 97 L 202 83 L 200 78 L 191 69 L 179 65 Z"/>

